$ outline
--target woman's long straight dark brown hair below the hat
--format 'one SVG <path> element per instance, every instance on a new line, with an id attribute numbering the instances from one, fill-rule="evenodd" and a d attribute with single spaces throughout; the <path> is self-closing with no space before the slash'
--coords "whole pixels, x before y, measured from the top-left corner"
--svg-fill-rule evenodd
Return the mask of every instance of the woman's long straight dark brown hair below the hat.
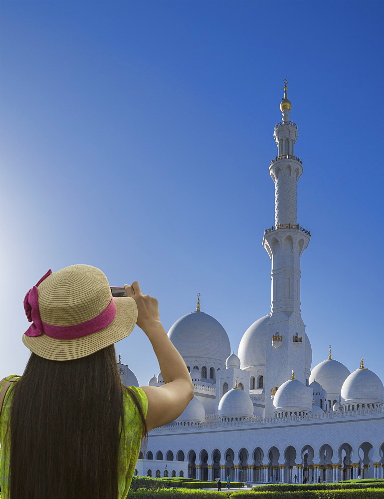
<path id="1" fill-rule="evenodd" d="M 114 345 L 66 361 L 31 353 L 12 387 L 10 498 L 116 499 L 124 389 Z"/>

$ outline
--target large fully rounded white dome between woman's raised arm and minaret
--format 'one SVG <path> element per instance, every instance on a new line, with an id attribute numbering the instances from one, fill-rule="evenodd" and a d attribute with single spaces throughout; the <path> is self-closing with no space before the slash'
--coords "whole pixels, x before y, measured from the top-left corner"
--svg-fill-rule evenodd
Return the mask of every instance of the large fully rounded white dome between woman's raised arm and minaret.
<path id="1" fill-rule="evenodd" d="M 168 336 L 184 359 L 209 358 L 224 363 L 231 353 L 225 329 L 204 312 L 184 315 L 171 327 Z"/>

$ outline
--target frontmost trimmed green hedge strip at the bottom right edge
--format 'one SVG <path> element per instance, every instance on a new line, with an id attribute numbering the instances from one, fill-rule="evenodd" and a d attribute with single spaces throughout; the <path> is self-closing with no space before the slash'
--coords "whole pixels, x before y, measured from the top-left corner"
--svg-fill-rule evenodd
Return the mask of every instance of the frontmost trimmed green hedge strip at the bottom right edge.
<path id="1" fill-rule="evenodd" d="M 384 499 L 384 489 L 301 492 L 234 492 L 230 499 Z"/>

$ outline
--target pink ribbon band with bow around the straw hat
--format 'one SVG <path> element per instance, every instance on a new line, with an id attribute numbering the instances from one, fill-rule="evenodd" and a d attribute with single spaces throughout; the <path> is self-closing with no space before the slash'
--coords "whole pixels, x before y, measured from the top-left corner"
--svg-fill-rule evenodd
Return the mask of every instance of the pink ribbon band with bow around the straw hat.
<path id="1" fill-rule="evenodd" d="M 37 286 L 51 273 L 52 270 L 48 270 L 48 272 L 41 277 L 38 283 L 29 289 L 25 295 L 25 315 L 27 316 L 29 322 L 33 321 L 24 333 L 26 336 L 40 336 L 41 334 L 46 334 L 51 338 L 69 340 L 87 336 L 88 334 L 95 333 L 96 331 L 100 331 L 101 329 L 109 326 L 116 315 L 116 307 L 113 298 L 111 299 L 109 305 L 101 313 L 99 313 L 99 315 L 96 315 L 96 317 L 86 320 L 85 322 L 81 322 L 80 324 L 75 324 L 73 326 L 53 326 L 52 324 L 43 322 L 39 312 Z"/>

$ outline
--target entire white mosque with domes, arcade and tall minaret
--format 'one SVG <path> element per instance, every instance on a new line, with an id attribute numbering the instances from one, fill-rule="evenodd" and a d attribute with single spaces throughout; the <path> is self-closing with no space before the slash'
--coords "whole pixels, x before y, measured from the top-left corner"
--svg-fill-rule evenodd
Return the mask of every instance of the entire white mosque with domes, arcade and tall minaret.
<path id="1" fill-rule="evenodd" d="M 194 397 L 172 424 L 149 432 L 139 475 L 188 476 L 247 483 L 337 482 L 384 478 L 384 387 L 364 366 L 349 371 L 332 358 L 311 370 L 312 350 L 300 309 L 300 257 L 311 235 L 297 221 L 294 154 L 297 125 L 291 103 L 275 125 L 275 225 L 264 232 L 272 261 L 271 312 L 245 331 L 231 354 L 222 325 L 200 310 L 169 330 L 194 384 Z M 137 386 L 126 365 L 125 384 Z M 164 384 L 161 373 L 149 381 Z M 188 475 L 187 475 L 188 474 Z"/>

